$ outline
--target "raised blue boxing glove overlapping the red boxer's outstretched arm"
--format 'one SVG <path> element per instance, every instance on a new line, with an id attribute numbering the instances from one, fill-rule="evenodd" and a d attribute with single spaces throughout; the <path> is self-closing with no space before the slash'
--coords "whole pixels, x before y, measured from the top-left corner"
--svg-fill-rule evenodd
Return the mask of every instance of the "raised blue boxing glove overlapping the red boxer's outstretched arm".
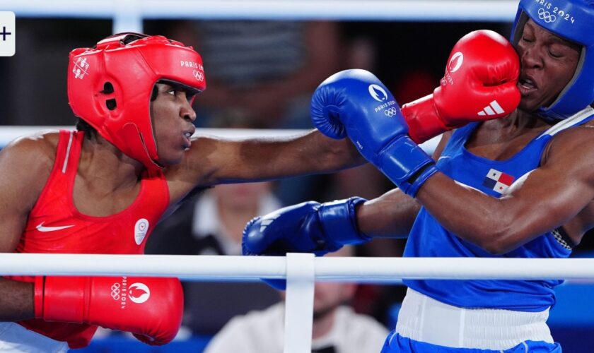
<path id="1" fill-rule="evenodd" d="M 408 136 L 392 93 L 369 71 L 334 73 L 313 93 L 310 113 L 322 133 L 349 136 L 366 160 L 410 196 L 437 172 L 431 157 Z"/>

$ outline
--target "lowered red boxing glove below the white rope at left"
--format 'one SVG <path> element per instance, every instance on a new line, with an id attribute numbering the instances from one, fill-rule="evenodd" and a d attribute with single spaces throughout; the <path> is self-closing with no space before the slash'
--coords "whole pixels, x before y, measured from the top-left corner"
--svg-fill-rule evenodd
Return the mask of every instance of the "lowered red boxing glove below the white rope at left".
<path id="1" fill-rule="evenodd" d="M 35 278 L 35 318 L 127 331 L 148 345 L 173 340 L 183 302 L 177 278 Z"/>

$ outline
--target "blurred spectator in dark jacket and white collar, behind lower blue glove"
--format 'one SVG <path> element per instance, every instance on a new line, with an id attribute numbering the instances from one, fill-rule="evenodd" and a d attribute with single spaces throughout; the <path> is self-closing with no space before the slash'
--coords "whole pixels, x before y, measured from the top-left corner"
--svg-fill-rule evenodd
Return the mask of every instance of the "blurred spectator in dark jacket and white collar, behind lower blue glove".
<path id="1" fill-rule="evenodd" d="M 240 255 L 245 223 L 281 207 L 269 183 L 229 184 L 187 201 L 161 222 L 146 253 Z M 262 283 L 184 282 L 182 325 L 197 335 L 213 335 L 233 316 L 279 301 Z"/>

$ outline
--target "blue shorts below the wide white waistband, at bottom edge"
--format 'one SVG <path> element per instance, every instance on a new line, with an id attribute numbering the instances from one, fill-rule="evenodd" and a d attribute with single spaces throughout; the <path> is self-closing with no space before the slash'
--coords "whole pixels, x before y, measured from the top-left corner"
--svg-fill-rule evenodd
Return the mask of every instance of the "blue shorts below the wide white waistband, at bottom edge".
<path id="1" fill-rule="evenodd" d="M 385 340 L 381 353 L 561 353 L 559 343 L 525 341 L 516 347 L 504 351 L 475 348 L 452 348 L 438 345 L 431 345 L 426 342 L 411 340 L 402 337 L 394 331 Z"/>

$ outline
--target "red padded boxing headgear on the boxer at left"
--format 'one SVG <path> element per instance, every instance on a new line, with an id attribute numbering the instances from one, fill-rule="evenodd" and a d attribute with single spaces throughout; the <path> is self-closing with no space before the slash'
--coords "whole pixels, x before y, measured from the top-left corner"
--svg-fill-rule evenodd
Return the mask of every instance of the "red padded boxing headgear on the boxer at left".
<path id="1" fill-rule="evenodd" d="M 202 92 L 200 54 L 161 35 L 137 33 L 112 35 L 94 48 L 70 52 L 68 100 L 74 114 L 148 168 L 158 167 L 149 109 L 158 80 Z"/>

